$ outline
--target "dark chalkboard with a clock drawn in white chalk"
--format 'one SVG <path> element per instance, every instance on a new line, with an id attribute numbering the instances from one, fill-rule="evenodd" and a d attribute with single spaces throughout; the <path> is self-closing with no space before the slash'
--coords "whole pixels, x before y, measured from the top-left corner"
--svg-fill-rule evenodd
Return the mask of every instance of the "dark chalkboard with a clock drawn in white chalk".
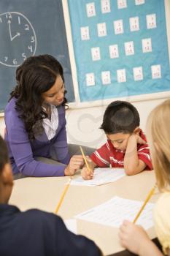
<path id="1" fill-rule="evenodd" d="M 0 1 L 0 111 L 15 87 L 15 71 L 28 56 L 50 54 L 63 66 L 66 94 L 74 102 L 61 0 Z"/>

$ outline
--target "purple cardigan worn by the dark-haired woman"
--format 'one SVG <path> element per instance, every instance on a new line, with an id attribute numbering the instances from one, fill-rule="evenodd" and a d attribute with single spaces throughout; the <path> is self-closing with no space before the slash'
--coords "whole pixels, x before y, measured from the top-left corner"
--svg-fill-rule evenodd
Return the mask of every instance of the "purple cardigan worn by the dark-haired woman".
<path id="1" fill-rule="evenodd" d="M 58 106 L 58 129 L 55 137 L 48 140 L 45 131 L 34 140 L 28 139 L 28 133 L 18 111 L 15 110 L 15 98 L 12 98 L 4 111 L 6 124 L 5 140 L 9 149 L 9 159 L 13 173 L 26 176 L 64 176 L 65 165 L 69 164 L 69 150 L 66 140 L 66 118 L 63 106 Z M 50 165 L 36 161 L 35 157 L 47 157 L 65 165 Z"/>

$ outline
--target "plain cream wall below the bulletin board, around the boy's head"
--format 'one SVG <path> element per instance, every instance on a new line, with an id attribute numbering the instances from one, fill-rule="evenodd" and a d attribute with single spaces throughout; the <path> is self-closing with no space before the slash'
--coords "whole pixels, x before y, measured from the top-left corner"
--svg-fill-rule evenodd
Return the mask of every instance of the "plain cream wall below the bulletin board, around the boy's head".
<path id="1" fill-rule="evenodd" d="M 153 99 L 149 101 L 133 102 L 139 110 L 141 128 L 145 131 L 147 116 L 156 105 L 161 104 L 165 99 Z M 112 99 L 110 100 L 112 102 Z M 82 144 L 98 148 L 106 137 L 101 129 L 104 110 L 107 106 L 82 108 L 66 111 L 67 135 L 69 143 Z"/>

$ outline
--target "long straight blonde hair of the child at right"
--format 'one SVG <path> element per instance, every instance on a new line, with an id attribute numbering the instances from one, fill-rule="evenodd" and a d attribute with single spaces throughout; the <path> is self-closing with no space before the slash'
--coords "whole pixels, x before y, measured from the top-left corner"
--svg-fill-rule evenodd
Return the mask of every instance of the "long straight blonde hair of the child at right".
<path id="1" fill-rule="evenodd" d="M 147 119 L 147 140 L 158 188 L 170 186 L 170 99 L 158 105 Z"/>

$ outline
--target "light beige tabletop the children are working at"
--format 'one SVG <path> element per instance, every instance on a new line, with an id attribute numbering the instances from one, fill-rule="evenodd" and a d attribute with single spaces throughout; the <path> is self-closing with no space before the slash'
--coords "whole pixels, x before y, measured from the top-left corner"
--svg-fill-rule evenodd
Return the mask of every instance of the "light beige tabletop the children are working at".
<path id="1" fill-rule="evenodd" d="M 75 176 L 77 177 L 79 173 Z M 26 211 L 29 208 L 39 208 L 54 212 L 63 192 L 63 187 L 69 177 L 23 178 L 15 181 L 9 203 Z M 98 187 L 70 186 L 58 212 L 63 219 L 70 219 L 82 211 L 104 203 L 118 195 L 132 200 L 144 200 L 155 184 L 154 171 L 144 171 L 135 176 L 125 176 L 119 180 Z M 150 202 L 154 203 L 158 193 Z M 78 233 L 88 236 L 98 244 L 104 255 L 120 252 L 117 232 L 114 227 L 106 227 L 96 223 L 77 220 Z M 155 237 L 153 228 L 148 230 L 150 238 Z"/>

